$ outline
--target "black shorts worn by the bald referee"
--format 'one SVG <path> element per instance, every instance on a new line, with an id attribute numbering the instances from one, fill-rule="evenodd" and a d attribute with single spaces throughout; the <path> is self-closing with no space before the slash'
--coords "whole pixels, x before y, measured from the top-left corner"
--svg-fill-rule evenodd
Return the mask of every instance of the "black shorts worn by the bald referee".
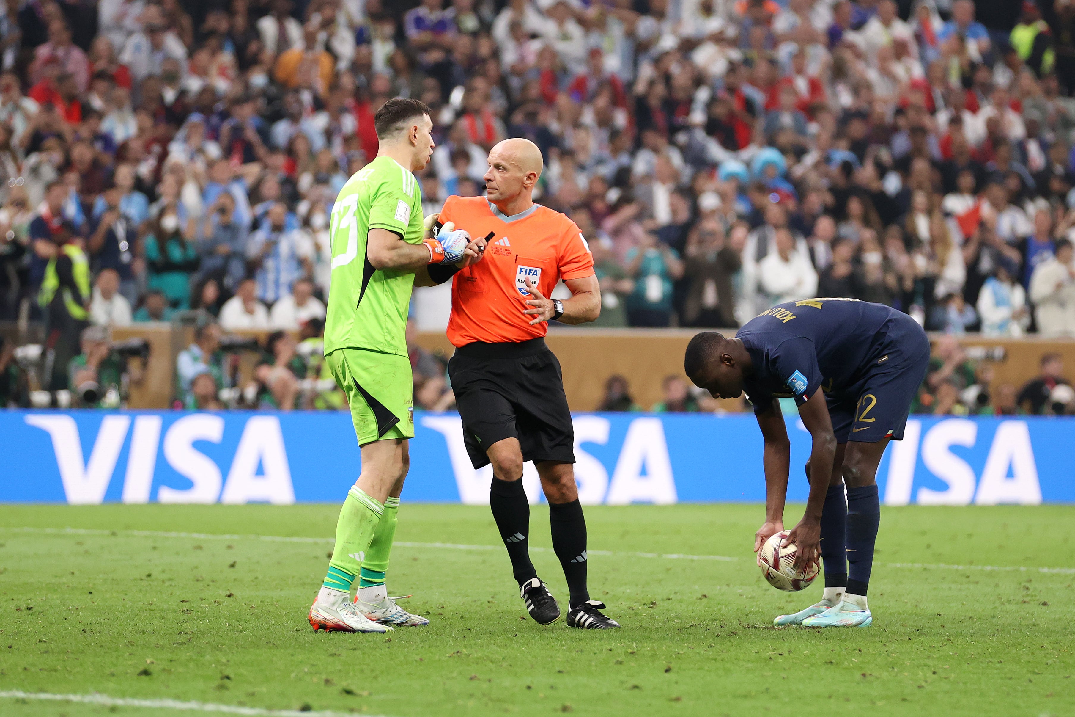
<path id="1" fill-rule="evenodd" d="M 485 451 L 517 439 L 522 460 L 575 462 L 575 431 L 556 355 L 544 339 L 460 346 L 448 362 L 463 441 L 475 469 Z"/>

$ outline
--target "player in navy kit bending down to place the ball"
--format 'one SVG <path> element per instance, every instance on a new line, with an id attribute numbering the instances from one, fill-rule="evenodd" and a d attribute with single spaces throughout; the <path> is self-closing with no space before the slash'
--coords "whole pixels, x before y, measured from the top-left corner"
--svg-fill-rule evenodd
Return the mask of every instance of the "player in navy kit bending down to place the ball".
<path id="1" fill-rule="evenodd" d="M 821 602 L 775 625 L 868 627 L 866 588 L 880 520 L 875 475 L 890 440 L 903 439 L 926 377 L 930 343 L 913 318 L 883 304 L 807 299 L 778 304 L 734 339 L 691 339 L 684 369 L 714 398 L 746 391 L 764 438 L 765 524 L 754 549 L 784 530 L 791 444 L 780 398 L 792 398 L 814 446 L 806 462 L 806 513 L 784 545 L 796 567 L 822 559 Z"/>

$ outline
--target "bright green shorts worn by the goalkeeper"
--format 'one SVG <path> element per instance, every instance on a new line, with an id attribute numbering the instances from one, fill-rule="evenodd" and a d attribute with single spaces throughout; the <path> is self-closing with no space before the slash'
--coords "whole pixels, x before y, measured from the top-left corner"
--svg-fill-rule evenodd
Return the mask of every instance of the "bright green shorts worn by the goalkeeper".
<path id="1" fill-rule="evenodd" d="M 358 445 L 414 438 L 410 358 L 364 348 L 338 348 L 325 357 L 325 362 L 347 395 Z"/>

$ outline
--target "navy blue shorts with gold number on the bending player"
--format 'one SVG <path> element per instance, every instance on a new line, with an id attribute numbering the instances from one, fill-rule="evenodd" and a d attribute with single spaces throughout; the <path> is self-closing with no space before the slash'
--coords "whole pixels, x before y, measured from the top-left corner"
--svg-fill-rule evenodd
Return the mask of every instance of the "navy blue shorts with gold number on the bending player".
<path id="1" fill-rule="evenodd" d="M 930 364 L 930 340 L 906 315 L 891 319 L 878 339 L 854 388 L 825 397 L 836 443 L 903 440 L 911 404 Z"/>

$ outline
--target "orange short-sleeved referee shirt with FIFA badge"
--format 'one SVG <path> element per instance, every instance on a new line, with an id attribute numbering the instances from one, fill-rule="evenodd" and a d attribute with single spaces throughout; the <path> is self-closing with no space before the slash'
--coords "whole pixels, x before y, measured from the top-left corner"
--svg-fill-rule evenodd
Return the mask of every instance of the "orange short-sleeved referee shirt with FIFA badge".
<path id="1" fill-rule="evenodd" d="M 475 341 L 518 343 L 544 336 L 545 321 L 530 326 L 526 278 L 548 298 L 559 279 L 593 274 L 593 257 L 574 221 L 534 204 L 505 217 L 484 197 L 448 197 L 439 221 L 454 221 L 471 236 L 489 239 L 485 256 L 456 273 L 452 284 L 448 340 L 455 346 Z"/>

